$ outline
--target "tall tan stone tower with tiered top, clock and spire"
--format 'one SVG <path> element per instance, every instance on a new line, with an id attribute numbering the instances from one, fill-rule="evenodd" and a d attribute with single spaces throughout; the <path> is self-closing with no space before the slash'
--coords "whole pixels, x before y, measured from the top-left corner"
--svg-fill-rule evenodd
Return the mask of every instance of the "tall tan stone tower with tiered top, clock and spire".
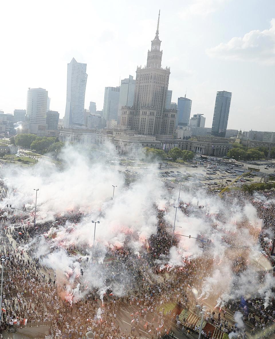
<path id="1" fill-rule="evenodd" d="M 172 136 L 177 112 L 165 108 L 170 68 L 161 67 L 158 28 L 159 15 L 156 35 L 147 55 L 147 65 L 136 69 L 133 107 L 121 108 L 121 125 L 129 126 L 143 135 Z"/>

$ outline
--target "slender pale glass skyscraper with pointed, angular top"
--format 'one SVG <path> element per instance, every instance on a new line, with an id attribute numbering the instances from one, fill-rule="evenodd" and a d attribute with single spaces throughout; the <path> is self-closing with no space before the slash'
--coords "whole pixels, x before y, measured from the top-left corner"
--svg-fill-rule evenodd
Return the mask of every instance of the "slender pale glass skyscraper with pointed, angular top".
<path id="1" fill-rule="evenodd" d="M 84 100 L 87 74 L 86 64 L 76 62 L 75 58 L 68 63 L 67 102 L 64 127 L 81 128 L 84 126 Z"/>

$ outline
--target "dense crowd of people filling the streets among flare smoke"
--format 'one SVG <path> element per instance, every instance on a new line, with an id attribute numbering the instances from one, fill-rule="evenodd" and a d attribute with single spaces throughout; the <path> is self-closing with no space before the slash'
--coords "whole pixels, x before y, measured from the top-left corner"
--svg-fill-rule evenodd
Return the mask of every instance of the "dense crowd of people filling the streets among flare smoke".
<path id="1" fill-rule="evenodd" d="M 6 193 L 1 188 L 2 194 Z M 272 201 L 275 194 L 263 193 L 266 199 Z M 241 199 L 240 199 L 241 198 Z M 234 199 L 240 199 L 240 204 L 250 201 L 257 208 L 259 218 L 264 218 L 259 242 L 262 253 L 270 260 L 272 244 L 267 241 L 270 232 L 275 234 L 274 205 L 267 204 L 244 192 L 236 191 L 225 194 L 227 204 Z M 198 244 L 205 254 L 200 258 L 184 258 L 184 265 L 169 264 L 168 256 L 171 246 L 171 228 L 165 219 L 166 210 L 154 206 L 157 215 L 157 232 L 144 241 L 142 251 L 134 251 L 127 246 L 110 247 L 105 255 L 108 258 L 102 263 L 93 262 L 97 284 L 89 284 L 84 277 L 56 277 L 45 266 L 42 257 L 38 257 L 38 242 L 36 237 L 47 234 L 46 242 L 50 252 L 56 250 L 52 245 L 53 233 L 66 223 L 77 224 L 83 218 L 83 213 L 70 211 L 62 216 L 56 216 L 54 222 L 36 224 L 25 222 L 29 215 L 13 214 L 9 208 L 0 212 L 1 223 L 1 256 L 5 261 L 5 277 L 3 287 L 2 326 L 1 331 L 9 331 L 15 323 L 22 326 L 29 324 L 50 324 L 46 339 L 82 339 L 87 331 L 92 331 L 95 338 L 131 339 L 160 338 L 173 336 L 178 328 L 186 336 L 199 332 L 199 326 L 188 318 L 179 320 L 179 314 L 173 305 L 180 305 L 182 310 L 196 314 L 198 299 L 193 290 L 200 291 L 203 278 L 213 271 L 214 259 L 207 253 L 211 252 L 211 243 L 205 244 L 203 236 Z M 204 213 L 204 206 L 194 206 L 180 202 L 181 211 L 185 215 L 195 215 L 209 218 Z M 217 216 L 218 218 L 218 216 Z M 215 225 L 213 225 L 215 227 Z M 269 237 L 267 237 L 269 232 Z M 179 239 L 175 237 L 173 244 Z M 83 257 L 89 252 L 89 245 L 70 245 L 66 248 L 71 256 L 80 253 Z M 95 257 L 100 255 L 100 249 L 95 251 Z M 234 259 L 236 260 L 236 259 Z M 236 274 L 244 268 L 236 261 Z M 259 273 L 259 279 L 264 279 L 266 272 Z M 99 282 L 102 284 L 99 286 Z M 217 291 L 218 293 L 218 291 Z M 274 334 L 271 324 L 275 320 L 274 300 L 265 305 L 265 300 L 256 296 L 228 300 L 222 307 L 215 308 L 218 294 L 212 296 L 207 306 L 206 323 L 220 331 L 233 333 L 238 338 L 245 338 L 247 329 L 250 335 L 259 334 L 268 338 Z M 209 300 L 211 298 L 209 297 Z M 274 306 L 273 306 L 274 304 Z M 201 302 L 202 305 L 202 302 Z M 123 326 L 121 308 L 127 309 L 131 316 L 130 327 Z M 243 315 L 243 323 L 234 321 L 234 312 Z M 229 314 L 231 316 L 229 316 Z M 212 339 L 214 333 L 203 331 L 202 338 Z"/>

